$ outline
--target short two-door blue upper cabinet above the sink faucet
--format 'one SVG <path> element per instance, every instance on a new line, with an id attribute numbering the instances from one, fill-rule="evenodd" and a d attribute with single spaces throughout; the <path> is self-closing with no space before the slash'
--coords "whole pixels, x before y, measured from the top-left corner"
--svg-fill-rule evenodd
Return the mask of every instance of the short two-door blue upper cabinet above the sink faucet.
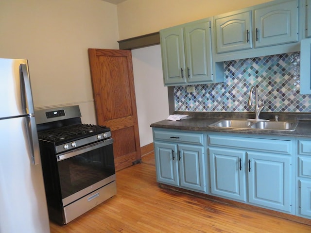
<path id="1" fill-rule="evenodd" d="M 299 3 L 275 0 L 214 16 L 214 61 L 299 51 Z"/>

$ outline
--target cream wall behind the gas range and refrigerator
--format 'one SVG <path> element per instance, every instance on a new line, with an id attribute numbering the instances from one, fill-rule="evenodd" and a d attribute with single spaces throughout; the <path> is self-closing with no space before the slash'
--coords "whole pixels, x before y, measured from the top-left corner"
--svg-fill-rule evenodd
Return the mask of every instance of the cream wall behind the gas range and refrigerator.
<path id="1" fill-rule="evenodd" d="M 117 6 L 102 0 L 0 0 L 0 57 L 28 59 L 35 108 L 79 104 L 96 123 L 87 49 L 118 39 Z"/>

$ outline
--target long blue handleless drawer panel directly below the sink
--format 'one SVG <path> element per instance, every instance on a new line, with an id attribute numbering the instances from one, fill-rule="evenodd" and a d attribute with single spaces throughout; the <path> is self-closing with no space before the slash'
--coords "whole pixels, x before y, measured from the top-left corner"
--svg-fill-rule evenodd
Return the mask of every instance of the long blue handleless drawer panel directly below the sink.
<path id="1" fill-rule="evenodd" d="M 208 146 L 228 147 L 281 154 L 292 154 L 292 141 L 264 138 L 228 137 L 219 135 L 208 136 Z"/>

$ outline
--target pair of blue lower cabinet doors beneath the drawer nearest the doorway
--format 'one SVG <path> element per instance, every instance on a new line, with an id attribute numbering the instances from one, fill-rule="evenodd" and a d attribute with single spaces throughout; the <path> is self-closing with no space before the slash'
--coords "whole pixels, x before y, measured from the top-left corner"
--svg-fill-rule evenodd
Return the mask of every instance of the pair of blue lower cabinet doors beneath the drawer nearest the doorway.
<path id="1" fill-rule="evenodd" d="M 206 192 L 204 147 L 154 142 L 157 182 Z"/>

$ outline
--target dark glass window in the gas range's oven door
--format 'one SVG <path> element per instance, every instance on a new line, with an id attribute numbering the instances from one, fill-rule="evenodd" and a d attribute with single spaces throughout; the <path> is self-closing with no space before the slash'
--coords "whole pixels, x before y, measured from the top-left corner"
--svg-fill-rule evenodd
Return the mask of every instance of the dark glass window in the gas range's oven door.
<path id="1" fill-rule="evenodd" d="M 115 174 L 112 144 L 57 162 L 62 198 Z"/>

